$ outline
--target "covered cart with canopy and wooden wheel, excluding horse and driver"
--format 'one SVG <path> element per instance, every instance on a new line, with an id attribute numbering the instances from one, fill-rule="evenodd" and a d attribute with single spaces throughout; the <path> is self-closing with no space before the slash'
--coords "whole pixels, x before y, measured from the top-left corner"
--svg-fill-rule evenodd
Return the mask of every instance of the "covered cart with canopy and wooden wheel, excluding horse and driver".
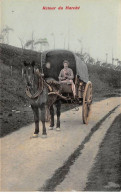
<path id="1" fill-rule="evenodd" d="M 65 102 L 70 101 L 79 105 L 81 104 L 83 123 L 88 124 L 92 103 L 92 83 L 89 81 L 87 66 L 81 58 L 67 50 L 46 51 L 41 56 L 42 71 L 45 79 L 53 78 L 58 81 L 59 73 L 63 69 L 64 60 L 69 62 L 69 68 L 73 70 L 76 95 L 75 97 L 73 96 L 70 84 L 61 83 L 61 90 L 58 92 L 59 97 L 62 97 Z"/>

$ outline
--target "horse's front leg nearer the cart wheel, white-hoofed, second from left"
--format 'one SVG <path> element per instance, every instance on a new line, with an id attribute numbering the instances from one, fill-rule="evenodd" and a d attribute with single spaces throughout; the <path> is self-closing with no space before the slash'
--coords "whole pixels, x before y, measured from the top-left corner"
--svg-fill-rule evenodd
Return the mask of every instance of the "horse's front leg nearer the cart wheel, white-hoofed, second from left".
<path id="1" fill-rule="evenodd" d="M 41 122 L 42 122 L 42 137 L 45 138 L 47 137 L 47 132 L 46 132 L 46 127 L 45 127 L 45 115 L 46 115 L 46 106 L 43 104 L 40 107 L 41 110 Z"/>

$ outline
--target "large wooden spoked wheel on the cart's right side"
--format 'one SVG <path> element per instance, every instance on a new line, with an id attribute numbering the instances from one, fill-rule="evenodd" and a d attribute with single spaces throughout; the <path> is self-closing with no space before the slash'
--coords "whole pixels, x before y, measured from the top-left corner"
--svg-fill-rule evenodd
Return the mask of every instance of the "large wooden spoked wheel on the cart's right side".
<path id="1" fill-rule="evenodd" d="M 92 83 L 87 82 L 83 93 L 82 119 L 84 124 L 88 124 L 92 104 Z"/>

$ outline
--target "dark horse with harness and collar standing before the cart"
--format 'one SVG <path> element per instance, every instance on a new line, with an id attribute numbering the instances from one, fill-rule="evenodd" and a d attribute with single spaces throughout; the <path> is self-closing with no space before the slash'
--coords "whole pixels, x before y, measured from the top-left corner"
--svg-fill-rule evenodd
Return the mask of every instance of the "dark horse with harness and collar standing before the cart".
<path id="1" fill-rule="evenodd" d="M 57 108 L 57 124 L 56 129 L 60 130 L 60 109 L 61 100 L 58 96 L 60 89 L 59 82 L 54 79 L 50 81 L 45 81 L 44 75 L 40 73 L 39 69 L 35 68 L 35 62 L 27 63 L 24 61 L 24 78 L 26 82 L 26 94 L 30 99 L 31 108 L 34 113 L 35 121 L 35 131 L 34 137 L 38 137 L 39 134 L 39 109 L 40 109 L 40 119 L 42 122 L 42 137 L 47 137 L 45 118 L 46 110 L 50 110 L 50 127 L 54 127 L 54 108 L 55 104 Z"/>

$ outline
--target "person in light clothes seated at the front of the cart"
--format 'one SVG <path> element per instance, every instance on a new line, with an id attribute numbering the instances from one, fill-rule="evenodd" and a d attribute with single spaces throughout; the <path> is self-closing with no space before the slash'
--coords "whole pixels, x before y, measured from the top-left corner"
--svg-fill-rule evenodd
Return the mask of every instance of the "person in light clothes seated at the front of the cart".
<path id="1" fill-rule="evenodd" d="M 63 65 L 64 65 L 64 68 L 60 71 L 60 74 L 59 74 L 59 77 L 58 77 L 59 81 L 61 83 L 71 84 L 73 95 L 75 97 L 75 85 L 73 83 L 73 78 L 74 78 L 73 71 L 72 71 L 71 68 L 68 68 L 69 62 L 67 60 L 65 60 L 63 62 Z"/>

